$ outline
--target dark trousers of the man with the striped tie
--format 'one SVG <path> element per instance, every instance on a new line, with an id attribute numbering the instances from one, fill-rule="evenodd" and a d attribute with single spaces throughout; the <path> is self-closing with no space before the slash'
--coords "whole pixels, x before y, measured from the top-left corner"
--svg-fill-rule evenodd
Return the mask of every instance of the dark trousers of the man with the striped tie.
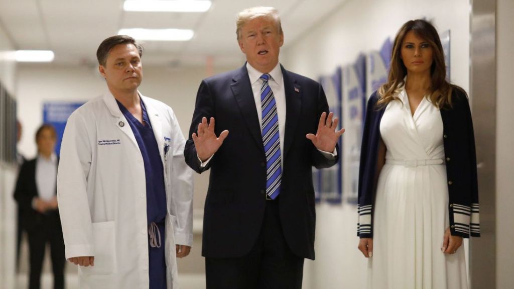
<path id="1" fill-rule="evenodd" d="M 262 229 L 248 255 L 205 258 L 207 289 L 300 289 L 303 261 L 284 239 L 278 200 L 266 201 Z"/>

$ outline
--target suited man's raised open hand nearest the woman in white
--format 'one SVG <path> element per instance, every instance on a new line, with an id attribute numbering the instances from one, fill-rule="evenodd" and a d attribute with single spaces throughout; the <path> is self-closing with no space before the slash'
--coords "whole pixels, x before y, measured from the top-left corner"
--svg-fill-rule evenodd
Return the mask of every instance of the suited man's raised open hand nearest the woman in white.
<path id="1" fill-rule="evenodd" d="M 305 137 L 313 142 L 313 145 L 320 151 L 332 153 L 336 148 L 337 139 L 344 133 L 344 129 L 336 131 L 337 122 L 339 121 L 334 118 L 334 113 L 329 113 L 328 118 L 326 113 L 322 113 L 320 122 L 318 124 L 318 131 L 316 135 L 307 134 Z"/>

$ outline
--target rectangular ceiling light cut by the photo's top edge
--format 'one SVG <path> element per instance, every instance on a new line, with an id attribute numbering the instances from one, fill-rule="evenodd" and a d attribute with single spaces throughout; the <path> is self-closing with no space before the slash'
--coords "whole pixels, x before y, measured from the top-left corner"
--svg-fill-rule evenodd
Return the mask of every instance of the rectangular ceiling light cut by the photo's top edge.
<path id="1" fill-rule="evenodd" d="M 143 12 L 205 12 L 210 0 L 125 0 L 123 10 Z"/>

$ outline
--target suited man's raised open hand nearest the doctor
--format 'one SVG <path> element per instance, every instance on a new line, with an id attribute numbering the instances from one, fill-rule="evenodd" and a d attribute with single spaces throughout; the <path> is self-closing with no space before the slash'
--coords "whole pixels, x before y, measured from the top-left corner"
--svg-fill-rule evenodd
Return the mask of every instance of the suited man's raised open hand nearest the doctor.
<path id="1" fill-rule="evenodd" d="M 201 161 L 209 159 L 222 146 L 223 141 L 228 136 L 228 131 L 224 130 L 219 137 L 214 133 L 214 118 L 211 117 L 209 124 L 207 118 L 203 117 L 198 124 L 197 134 L 193 133 L 194 146 L 196 153 Z"/>

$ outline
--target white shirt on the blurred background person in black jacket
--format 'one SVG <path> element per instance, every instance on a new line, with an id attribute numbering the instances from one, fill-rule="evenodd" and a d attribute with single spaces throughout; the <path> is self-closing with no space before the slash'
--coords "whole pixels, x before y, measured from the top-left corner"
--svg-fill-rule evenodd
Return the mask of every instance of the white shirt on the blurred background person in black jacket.
<path id="1" fill-rule="evenodd" d="M 50 158 L 38 155 L 35 162 L 35 185 L 39 197 L 44 201 L 50 201 L 56 195 L 57 184 L 57 156 Z"/>

